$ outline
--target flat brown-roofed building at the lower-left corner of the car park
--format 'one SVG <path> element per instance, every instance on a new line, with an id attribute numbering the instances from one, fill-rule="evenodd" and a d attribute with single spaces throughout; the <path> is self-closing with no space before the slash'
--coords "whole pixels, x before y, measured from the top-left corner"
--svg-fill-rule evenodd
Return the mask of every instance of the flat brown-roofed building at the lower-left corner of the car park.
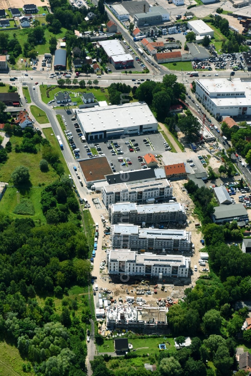
<path id="1" fill-rule="evenodd" d="M 106 181 L 105 175 L 112 172 L 106 157 L 81 159 L 78 161 L 80 176 L 90 188 L 94 182 Z"/>

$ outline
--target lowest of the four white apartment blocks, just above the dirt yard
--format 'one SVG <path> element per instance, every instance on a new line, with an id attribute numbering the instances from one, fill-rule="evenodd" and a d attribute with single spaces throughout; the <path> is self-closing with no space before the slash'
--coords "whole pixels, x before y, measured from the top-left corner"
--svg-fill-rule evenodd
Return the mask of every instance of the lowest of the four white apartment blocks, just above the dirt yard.
<path id="1" fill-rule="evenodd" d="M 108 255 L 108 273 L 126 276 L 188 276 L 190 257 L 180 255 L 153 255 L 125 250 L 111 250 Z"/>

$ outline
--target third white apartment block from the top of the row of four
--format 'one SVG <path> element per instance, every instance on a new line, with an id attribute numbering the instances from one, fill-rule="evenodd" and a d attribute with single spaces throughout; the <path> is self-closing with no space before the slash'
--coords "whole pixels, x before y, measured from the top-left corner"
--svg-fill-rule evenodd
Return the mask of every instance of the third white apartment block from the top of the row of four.
<path id="1" fill-rule="evenodd" d="M 191 232 L 144 228 L 134 224 L 114 224 L 111 227 L 111 245 L 114 249 L 138 252 L 190 252 Z"/>

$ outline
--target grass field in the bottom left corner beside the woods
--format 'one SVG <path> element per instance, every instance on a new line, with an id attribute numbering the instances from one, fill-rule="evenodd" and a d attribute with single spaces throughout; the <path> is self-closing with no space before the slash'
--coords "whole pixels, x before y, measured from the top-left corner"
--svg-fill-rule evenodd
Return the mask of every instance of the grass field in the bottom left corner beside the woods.
<path id="1" fill-rule="evenodd" d="M 29 362 L 24 361 L 18 349 L 15 346 L 8 345 L 6 342 L 0 343 L 0 375 L 2 376 L 33 376 L 34 372 L 24 372 L 23 364 Z"/>

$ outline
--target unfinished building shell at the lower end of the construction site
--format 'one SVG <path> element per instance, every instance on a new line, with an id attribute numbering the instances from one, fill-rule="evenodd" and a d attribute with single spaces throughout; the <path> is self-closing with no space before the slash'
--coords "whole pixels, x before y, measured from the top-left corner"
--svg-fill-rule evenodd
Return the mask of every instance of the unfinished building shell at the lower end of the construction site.
<path id="1" fill-rule="evenodd" d="M 166 329 L 168 308 L 114 304 L 106 309 L 108 329 Z"/>

